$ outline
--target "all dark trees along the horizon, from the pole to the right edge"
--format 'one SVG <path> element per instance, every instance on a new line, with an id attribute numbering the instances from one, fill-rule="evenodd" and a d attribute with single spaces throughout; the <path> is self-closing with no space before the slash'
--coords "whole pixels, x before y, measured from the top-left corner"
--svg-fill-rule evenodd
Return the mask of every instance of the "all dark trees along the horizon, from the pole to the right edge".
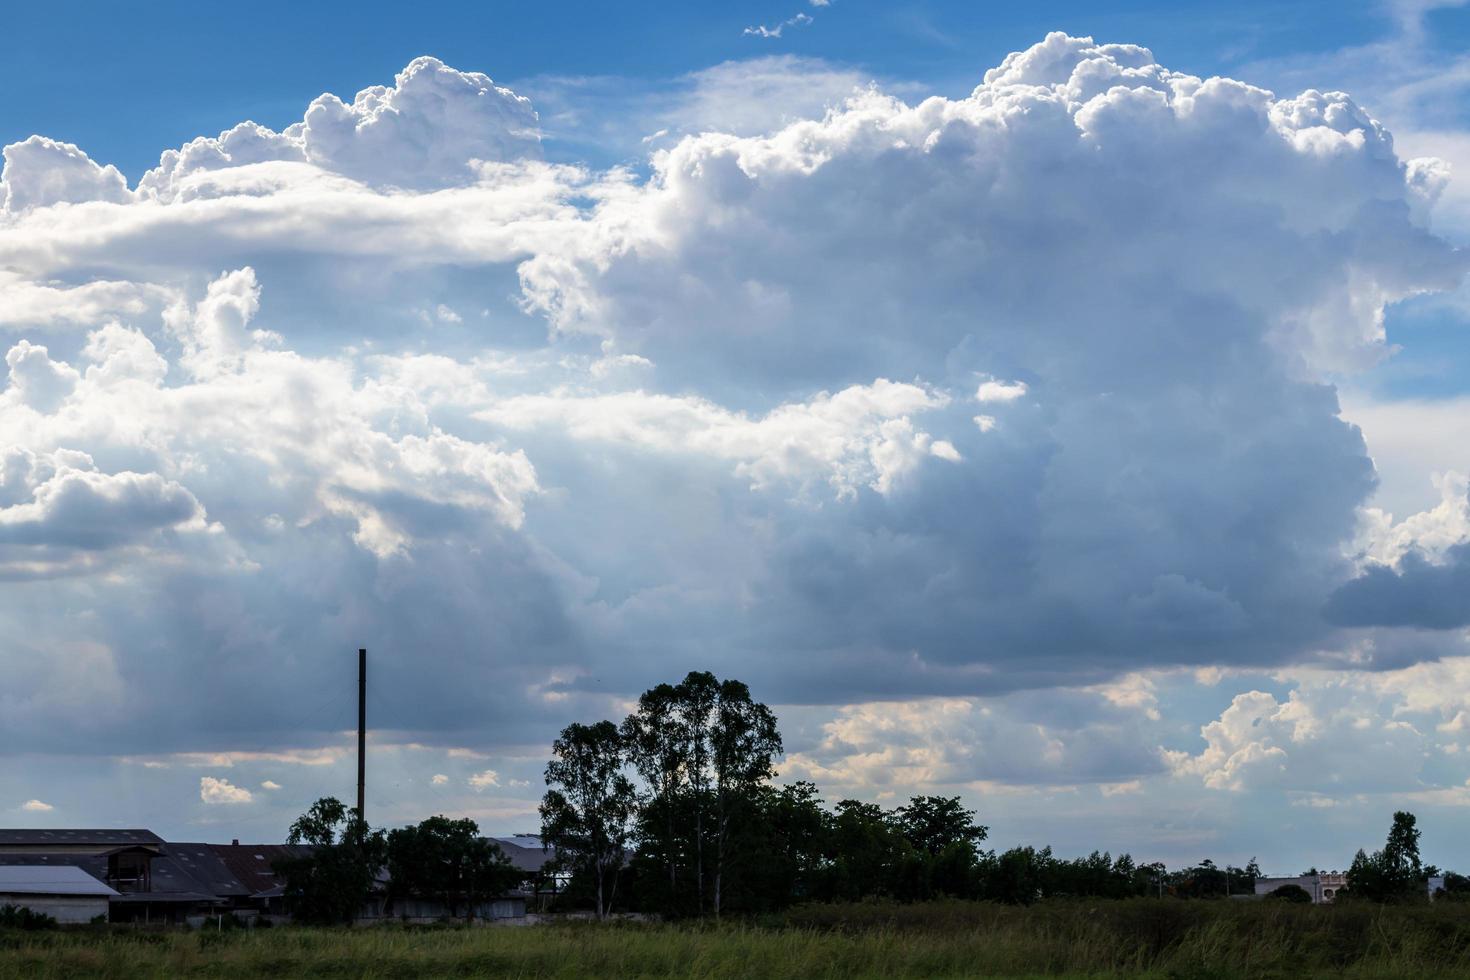
<path id="1" fill-rule="evenodd" d="M 351 921 L 375 890 L 390 908 L 432 899 L 454 917 L 526 884 L 550 892 L 553 908 L 598 917 L 717 917 L 861 899 L 1207 899 L 1252 895 L 1260 877 L 1254 858 L 1169 870 L 1127 854 L 997 852 L 958 796 L 829 805 L 811 783 L 773 782 L 781 752 L 769 707 L 738 680 L 695 671 L 644 692 L 620 723 L 570 724 L 557 736 L 539 808 L 548 864 L 534 882 L 472 820 L 373 830 L 337 799 L 293 824 L 291 843 L 312 852 L 278 870 L 293 912 L 310 923 Z M 1339 901 L 1427 899 L 1439 870 L 1420 862 L 1419 836 L 1413 814 L 1395 814 L 1385 848 L 1358 852 Z M 1446 874 L 1442 896 L 1470 899 L 1470 879 Z M 1295 886 L 1276 898 L 1310 901 Z"/>

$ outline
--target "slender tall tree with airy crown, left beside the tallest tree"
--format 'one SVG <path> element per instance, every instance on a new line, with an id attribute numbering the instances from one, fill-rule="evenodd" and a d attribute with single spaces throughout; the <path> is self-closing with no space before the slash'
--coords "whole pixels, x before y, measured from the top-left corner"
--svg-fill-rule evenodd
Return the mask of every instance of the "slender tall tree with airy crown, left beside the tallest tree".
<path id="1" fill-rule="evenodd" d="M 541 836 L 557 860 L 579 867 L 597 883 L 597 917 L 606 918 L 616 895 L 632 820 L 638 810 L 622 733 L 612 721 L 569 724 L 551 745 L 547 790 L 541 799 Z M 612 876 L 613 890 L 604 895 Z"/>

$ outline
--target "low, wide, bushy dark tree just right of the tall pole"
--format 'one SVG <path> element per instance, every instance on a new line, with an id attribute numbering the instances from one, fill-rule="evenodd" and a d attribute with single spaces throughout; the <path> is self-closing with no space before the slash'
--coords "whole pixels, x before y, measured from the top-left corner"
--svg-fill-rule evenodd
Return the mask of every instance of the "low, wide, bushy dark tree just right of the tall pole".
<path id="1" fill-rule="evenodd" d="M 394 898 L 432 898 L 451 917 L 514 887 L 520 873 L 494 840 L 479 836 L 473 820 L 429 817 L 388 833 L 388 876 Z"/>

